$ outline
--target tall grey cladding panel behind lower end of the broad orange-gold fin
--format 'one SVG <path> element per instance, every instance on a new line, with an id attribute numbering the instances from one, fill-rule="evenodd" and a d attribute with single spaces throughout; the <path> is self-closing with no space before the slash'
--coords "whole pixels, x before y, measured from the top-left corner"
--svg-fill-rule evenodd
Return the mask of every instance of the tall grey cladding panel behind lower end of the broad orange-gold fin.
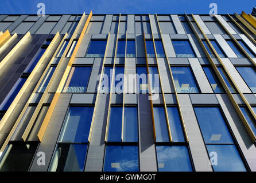
<path id="1" fill-rule="evenodd" d="M 71 93 L 61 93 L 59 100 L 53 110 L 53 114 L 49 124 L 45 130 L 44 137 L 40 145 L 38 146 L 37 152 L 45 153 L 45 166 L 37 164 L 39 157 L 35 156 L 30 166 L 30 172 L 47 172 L 48 167 L 51 163 L 52 155 L 55 151 L 55 146 L 60 134 L 61 126 L 64 122 L 65 115 L 69 107 L 69 101 L 71 100 Z"/>

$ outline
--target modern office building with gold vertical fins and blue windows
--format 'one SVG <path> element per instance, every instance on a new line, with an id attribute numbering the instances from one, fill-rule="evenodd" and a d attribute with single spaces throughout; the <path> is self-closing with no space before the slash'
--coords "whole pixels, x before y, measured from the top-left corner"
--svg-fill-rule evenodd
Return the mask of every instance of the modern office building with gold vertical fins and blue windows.
<path id="1" fill-rule="evenodd" d="M 255 15 L 0 15 L 0 31 L 0 171 L 256 171 Z"/>

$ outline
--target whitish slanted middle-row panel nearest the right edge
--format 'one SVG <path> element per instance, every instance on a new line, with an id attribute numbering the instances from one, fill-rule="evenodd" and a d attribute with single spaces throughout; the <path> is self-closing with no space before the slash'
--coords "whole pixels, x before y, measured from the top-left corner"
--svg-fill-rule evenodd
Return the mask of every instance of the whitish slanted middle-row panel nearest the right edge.
<path id="1" fill-rule="evenodd" d="M 245 81 L 243 81 L 243 78 L 235 69 L 234 65 L 232 65 L 232 63 L 230 62 L 230 59 L 222 58 L 222 61 L 223 61 L 223 64 L 226 66 L 228 73 L 230 73 L 232 79 L 234 79 L 239 90 L 241 90 L 242 93 L 251 93 L 251 90 L 246 85 Z"/>

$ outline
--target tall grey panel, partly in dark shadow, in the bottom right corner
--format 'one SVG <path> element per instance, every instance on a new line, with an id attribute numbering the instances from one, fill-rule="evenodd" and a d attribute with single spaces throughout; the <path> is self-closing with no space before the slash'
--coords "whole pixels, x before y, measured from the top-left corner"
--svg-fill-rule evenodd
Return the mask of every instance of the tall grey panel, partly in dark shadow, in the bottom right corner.
<path id="1" fill-rule="evenodd" d="M 245 126 L 240 120 L 238 114 L 228 96 L 225 94 L 216 94 L 220 106 L 224 112 L 224 115 L 227 118 L 227 122 L 234 134 L 236 141 L 245 157 L 251 171 L 256 171 L 256 148 L 253 142 L 251 141 Z"/>

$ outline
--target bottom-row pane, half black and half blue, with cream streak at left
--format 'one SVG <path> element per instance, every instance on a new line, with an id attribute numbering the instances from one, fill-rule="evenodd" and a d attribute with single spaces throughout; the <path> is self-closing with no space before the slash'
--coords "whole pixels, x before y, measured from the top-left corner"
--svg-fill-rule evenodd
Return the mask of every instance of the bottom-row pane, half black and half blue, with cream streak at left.
<path id="1" fill-rule="evenodd" d="M 59 144 L 53 156 L 51 172 L 83 172 L 87 144 Z"/>

